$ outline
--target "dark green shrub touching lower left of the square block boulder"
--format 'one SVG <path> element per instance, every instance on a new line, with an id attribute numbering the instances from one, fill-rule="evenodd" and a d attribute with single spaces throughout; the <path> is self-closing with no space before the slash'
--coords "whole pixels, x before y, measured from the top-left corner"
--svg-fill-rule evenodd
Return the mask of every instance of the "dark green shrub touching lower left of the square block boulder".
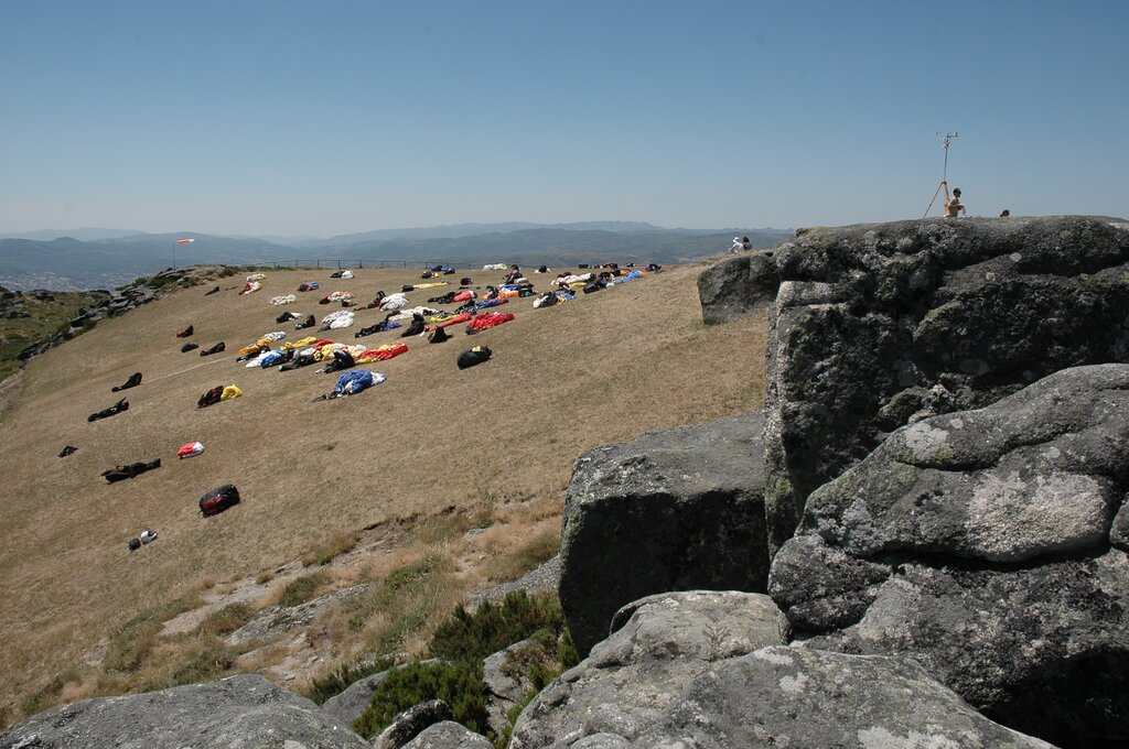
<path id="1" fill-rule="evenodd" d="M 432 658 L 485 658 L 520 642 L 539 629 L 555 640 L 564 629 L 564 615 L 554 596 L 531 598 L 518 590 L 500 605 L 485 601 L 474 614 L 462 606 L 439 625 L 431 637 Z"/>

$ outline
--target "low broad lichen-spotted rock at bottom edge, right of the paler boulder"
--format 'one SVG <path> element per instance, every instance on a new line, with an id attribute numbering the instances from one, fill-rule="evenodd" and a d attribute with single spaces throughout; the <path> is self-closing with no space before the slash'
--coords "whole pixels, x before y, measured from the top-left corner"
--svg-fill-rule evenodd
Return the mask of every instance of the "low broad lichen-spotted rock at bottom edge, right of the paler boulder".
<path id="1" fill-rule="evenodd" d="M 781 646 L 712 664 L 628 746 L 1051 747 L 992 723 L 909 659 Z"/>

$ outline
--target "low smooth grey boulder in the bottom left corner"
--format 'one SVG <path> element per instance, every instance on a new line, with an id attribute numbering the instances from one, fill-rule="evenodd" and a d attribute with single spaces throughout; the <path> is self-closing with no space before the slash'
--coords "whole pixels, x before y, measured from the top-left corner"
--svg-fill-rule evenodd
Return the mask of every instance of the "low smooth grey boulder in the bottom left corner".
<path id="1" fill-rule="evenodd" d="M 0 737 L 0 749 L 317 747 L 368 749 L 352 729 L 261 676 L 236 676 L 54 707 Z"/>

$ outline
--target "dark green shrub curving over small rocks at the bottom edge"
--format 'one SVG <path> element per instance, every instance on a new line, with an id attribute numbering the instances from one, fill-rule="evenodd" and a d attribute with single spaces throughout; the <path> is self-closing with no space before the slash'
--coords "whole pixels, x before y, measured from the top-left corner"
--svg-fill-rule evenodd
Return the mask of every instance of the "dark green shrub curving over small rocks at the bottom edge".
<path id="1" fill-rule="evenodd" d="M 482 663 L 411 663 L 388 673 L 373 693 L 353 728 L 366 739 L 383 731 L 396 715 L 428 699 L 450 705 L 456 722 L 483 735 L 490 735 L 487 713 L 487 687 Z"/>

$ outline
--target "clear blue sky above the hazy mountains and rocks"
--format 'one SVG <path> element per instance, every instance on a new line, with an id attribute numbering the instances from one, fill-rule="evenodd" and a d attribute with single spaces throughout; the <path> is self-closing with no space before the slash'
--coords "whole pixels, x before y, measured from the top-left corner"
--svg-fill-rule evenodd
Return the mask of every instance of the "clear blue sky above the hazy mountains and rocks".
<path id="1" fill-rule="evenodd" d="M 1129 215 L 1129 2 L 0 1 L 0 232 Z M 937 213 L 934 209 L 934 213 Z"/>

